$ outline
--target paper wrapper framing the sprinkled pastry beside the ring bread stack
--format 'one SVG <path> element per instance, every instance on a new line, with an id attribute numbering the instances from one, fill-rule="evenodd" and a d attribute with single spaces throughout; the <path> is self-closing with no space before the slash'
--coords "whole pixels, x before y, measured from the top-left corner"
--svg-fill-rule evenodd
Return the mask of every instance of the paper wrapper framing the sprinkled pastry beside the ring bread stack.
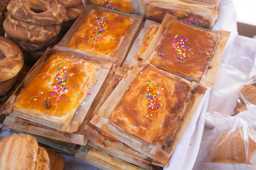
<path id="1" fill-rule="evenodd" d="M 85 50 L 81 49 L 80 50 L 80 49 L 71 49 L 71 48 L 67 47 L 70 40 L 72 40 L 73 35 L 76 33 L 77 30 L 79 30 L 79 28 L 81 27 L 83 22 L 86 20 L 86 17 L 90 16 L 90 14 L 93 13 L 94 10 L 106 11 L 106 12 L 109 12 L 109 13 L 117 13 L 121 16 L 128 17 L 128 18 L 130 18 L 130 20 L 132 20 L 132 23 L 131 23 L 130 27 L 127 28 L 128 30 L 126 30 L 125 35 L 124 36 L 119 35 L 120 36 L 119 38 L 121 38 L 121 39 L 119 41 L 115 42 L 116 43 L 115 44 L 115 49 L 112 50 L 112 51 L 115 51 L 115 54 L 111 54 L 111 55 L 110 54 L 105 54 L 105 51 L 103 50 L 103 47 L 101 47 L 101 42 L 104 42 L 104 40 L 108 39 L 108 38 L 112 38 L 113 40 L 117 39 L 115 37 L 113 38 L 112 35 L 115 35 L 115 32 L 114 32 L 115 30 L 120 30 L 120 31 L 122 30 L 122 28 L 121 28 L 122 25 L 120 23 L 119 23 L 119 25 L 116 25 L 116 27 L 115 27 L 115 23 L 114 23 L 113 26 L 111 27 L 111 30 L 106 29 L 105 32 L 108 31 L 108 33 L 109 33 L 110 31 L 113 31 L 114 34 L 110 33 L 110 35 L 108 35 L 108 37 L 107 36 L 103 37 L 101 42 L 100 41 L 97 42 L 96 45 L 99 45 L 99 48 L 102 48 L 102 50 L 99 51 L 99 53 L 97 53 L 97 52 L 91 53 L 90 51 L 86 52 L 87 49 L 85 49 Z M 76 19 L 74 24 L 70 27 L 69 31 L 67 31 L 67 33 L 65 34 L 63 39 L 54 47 L 54 49 L 58 49 L 58 50 L 61 50 L 61 51 L 72 52 L 72 53 L 78 53 L 78 54 L 81 54 L 81 55 L 87 55 L 87 56 L 91 56 L 91 57 L 102 58 L 104 60 L 112 61 L 113 64 L 116 64 L 117 66 L 121 66 L 121 64 L 124 62 L 124 59 L 126 58 L 126 56 L 128 54 L 128 51 L 130 50 L 130 46 L 131 46 L 132 41 L 135 37 L 135 34 L 137 33 L 138 29 L 141 27 L 142 20 L 143 20 L 143 17 L 141 15 L 122 13 L 120 11 L 115 11 L 115 10 L 111 10 L 111 9 L 107 9 L 107 8 L 103 8 L 103 7 L 99 7 L 99 6 L 96 6 L 96 5 L 90 5 L 89 4 L 89 5 L 86 5 L 86 8 L 81 13 L 81 15 L 79 15 L 79 18 Z M 112 21 L 112 22 L 115 22 L 115 21 Z M 94 24 L 94 23 L 92 23 L 92 24 Z M 90 33 L 85 32 L 84 34 L 87 38 L 92 35 L 91 32 Z M 106 34 L 107 33 L 105 33 L 105 35 Z M 80 38 L 83 38 L 83 40 L 86 40 L 86 37 L 80 37 Z M 91 41 L 91 43 L 92 42 L 93 41 Z M 83 41 L 81 43 L 83 43 Z M 110 41 L 108 40 L 107 43 L 110 46 L 110 44 L 113 43 L 113 42 L 111 40 Z M 104 46 L 108 46 L 108 44 L 104 44 Z M 85 44 L 85 46 L 86 46 L 86 44 Z M 87 48 L 87 46 L 86 46 L 86 48 Z M 94 51 L 97 51 L 97 49 L 95 49 Z"/>

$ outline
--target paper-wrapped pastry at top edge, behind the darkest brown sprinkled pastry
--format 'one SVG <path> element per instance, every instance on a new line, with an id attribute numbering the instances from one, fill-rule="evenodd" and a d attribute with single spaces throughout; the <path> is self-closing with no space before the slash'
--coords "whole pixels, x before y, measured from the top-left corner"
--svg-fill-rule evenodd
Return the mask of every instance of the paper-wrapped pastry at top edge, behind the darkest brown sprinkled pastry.
<path id="1" fill-rule="evenodd" d="M 213 5 L 213 8 L 215 8 L 215 5 Z M 170 13 L 179 20 L 190 23 L 195 22 L 193 24 L 198 22 L 197 25 L 200 26 L 200 24 L 202 24 L 204 28 L 212 28 L 218 17 L 217 10 L 207 9 L 179 0 L 143 0 L 141 1 L 141 9 L 141 13 L 144 13 L 143 15 L 145 15 L 148 20 L 161 23 L 165 14 Z"/>

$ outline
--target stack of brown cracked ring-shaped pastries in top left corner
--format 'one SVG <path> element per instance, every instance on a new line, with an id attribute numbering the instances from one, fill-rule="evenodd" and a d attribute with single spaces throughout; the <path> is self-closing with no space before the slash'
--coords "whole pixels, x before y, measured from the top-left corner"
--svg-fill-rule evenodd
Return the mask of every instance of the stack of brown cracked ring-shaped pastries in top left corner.
<path id="1" fill-rule="evenodd" d="M 10 0 L 3 23 L 5 37 L 23 52 L 41 50 L 57 40 L 65 13 L 59 0 Z"/>

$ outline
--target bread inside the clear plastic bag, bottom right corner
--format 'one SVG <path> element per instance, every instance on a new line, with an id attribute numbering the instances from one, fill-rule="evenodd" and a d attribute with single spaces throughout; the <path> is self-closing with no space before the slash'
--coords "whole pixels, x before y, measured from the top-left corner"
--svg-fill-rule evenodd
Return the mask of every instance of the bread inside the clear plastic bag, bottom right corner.
<path id="1" fill-rule="evenodd" d="M 215 145 L 211 146 L 209 161 L 215 163 L 252 164 L 250 159 L 256 152 L 256 143 L 248 136 L 248 145 L 240 131 L 227 135 L 223 133 Z M 248 148 L 246 148 L 248 146 Z"/>

